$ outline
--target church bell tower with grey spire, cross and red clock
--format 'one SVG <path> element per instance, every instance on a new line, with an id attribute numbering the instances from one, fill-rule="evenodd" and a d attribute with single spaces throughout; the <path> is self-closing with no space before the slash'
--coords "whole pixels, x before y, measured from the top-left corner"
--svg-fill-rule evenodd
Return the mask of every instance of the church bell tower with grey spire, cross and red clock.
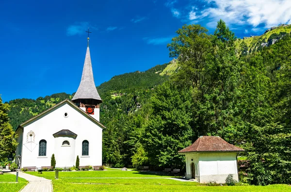
<path id="1" fill-rule="evenodd" d="M 84 112 L 91 115 L 97 121 L 100 118 L 100 103 L 102 103 L 99 96 L 93 77 L 92 63 L 89 49 L 89 28 L 87 38 L 87 51 L 85 56 L 85 62 L 83 66 L 83 72 L 79 88 L 72 98 L 72 101 L 80 107 Z"/>

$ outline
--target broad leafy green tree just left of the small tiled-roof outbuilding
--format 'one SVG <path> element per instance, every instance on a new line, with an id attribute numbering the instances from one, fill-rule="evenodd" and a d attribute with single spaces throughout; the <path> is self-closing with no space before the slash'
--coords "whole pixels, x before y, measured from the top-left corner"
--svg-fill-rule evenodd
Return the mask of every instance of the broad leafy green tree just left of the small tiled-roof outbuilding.
<path id="1" fill-rule="evenodd" d="M 195 135 L 191 128 L 191 90 L 178 89 L 165 82 L 151 97 L 152 113 L 148 117 L 143 146 L 149 162 L 156 166 L 184 166 L 178 150 L 190 145 Z"/>

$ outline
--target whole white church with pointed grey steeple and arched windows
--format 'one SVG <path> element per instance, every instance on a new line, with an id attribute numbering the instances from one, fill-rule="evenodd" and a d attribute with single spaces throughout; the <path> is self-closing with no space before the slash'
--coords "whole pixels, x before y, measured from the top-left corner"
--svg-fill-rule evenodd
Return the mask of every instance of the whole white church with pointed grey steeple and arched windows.
<path id="1" fill-rule="evenodd" d="M 81 82 L 72 100 L 63 100 L 16 129 L 18 168 L 50 166 L 52 154 L 56 167 L 60 168 L 73 167 L 77 156 L 80 166 L 102 165 L 102 129 L 105 126 L 99 121 L 100 103 L 88 36 Z"/>

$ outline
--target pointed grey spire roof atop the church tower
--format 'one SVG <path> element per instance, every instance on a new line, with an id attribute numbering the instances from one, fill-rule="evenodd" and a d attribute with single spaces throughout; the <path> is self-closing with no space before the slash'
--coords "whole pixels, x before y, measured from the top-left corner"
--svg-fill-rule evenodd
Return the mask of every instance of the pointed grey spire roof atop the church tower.
<path id="1" fill-rule="evenodd" d="M 72 101 L 77 99 L 95 99 L 99 103 L 102 102 L 94 82 L 89 46 L 87 47 L 81 82 Z"/>

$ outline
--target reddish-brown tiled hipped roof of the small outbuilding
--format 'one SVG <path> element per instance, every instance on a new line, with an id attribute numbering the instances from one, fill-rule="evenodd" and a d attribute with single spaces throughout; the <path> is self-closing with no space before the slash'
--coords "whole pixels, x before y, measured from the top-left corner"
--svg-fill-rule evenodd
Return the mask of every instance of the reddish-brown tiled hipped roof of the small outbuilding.
<path id="1" fill-rule="evenodd" d="M 178 151 L 178 153 L 187 152 L 208 152 L 208 151 L 244 151 L 242 148 L 227 143 L 218 136 L 200 136 L 193 144 Z"/>

